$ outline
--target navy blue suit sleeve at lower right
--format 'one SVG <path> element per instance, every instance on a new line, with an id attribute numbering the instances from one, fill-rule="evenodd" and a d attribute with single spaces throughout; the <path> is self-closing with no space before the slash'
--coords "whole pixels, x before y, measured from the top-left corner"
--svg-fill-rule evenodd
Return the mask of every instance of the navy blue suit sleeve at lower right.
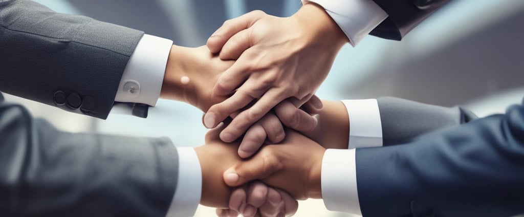
<path id="1" fill-rule="evenodd" d="M 421 136 L 356 149 L 363 216 L 524 213 L 524 107 Z"/>

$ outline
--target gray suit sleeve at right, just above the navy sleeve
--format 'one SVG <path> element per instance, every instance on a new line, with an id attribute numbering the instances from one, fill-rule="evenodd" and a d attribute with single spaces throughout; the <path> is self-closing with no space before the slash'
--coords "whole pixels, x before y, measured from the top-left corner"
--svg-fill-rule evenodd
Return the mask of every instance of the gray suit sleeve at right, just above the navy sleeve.
<path id="1" fill-rule="evenodd" d="M 442 107 L 394 97 L 377 99 L 384 146 L 411 142 L 424 133 L 477 118 L 461 106 Z"/>

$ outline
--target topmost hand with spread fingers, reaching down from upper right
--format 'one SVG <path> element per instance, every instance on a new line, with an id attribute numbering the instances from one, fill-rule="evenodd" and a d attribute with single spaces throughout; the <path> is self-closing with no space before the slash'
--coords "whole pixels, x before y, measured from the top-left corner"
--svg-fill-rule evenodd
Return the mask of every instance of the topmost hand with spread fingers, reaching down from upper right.
<path id="1" fill-rule="evenodd" d="M 282 100 L 307 101 L 346 42 L 342 30 L 315 4 L 306 4 L 286 18 L 255 11 L 226 21 L 210 37 L 208 47 L 220 51 L 221 59 L 238 60 L 221 75 L 213 91 L 217 95 L 236 91 L 210 107 L 205 126 L 215 127 L 258 99 L 221 133 L 224 142 L 232 142 Z"/>

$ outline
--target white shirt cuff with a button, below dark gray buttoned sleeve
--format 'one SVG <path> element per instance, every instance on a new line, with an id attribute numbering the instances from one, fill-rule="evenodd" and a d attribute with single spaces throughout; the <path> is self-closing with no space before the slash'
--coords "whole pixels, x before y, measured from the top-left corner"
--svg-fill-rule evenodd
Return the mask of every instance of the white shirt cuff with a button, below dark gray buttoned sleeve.
<path id="1" fill-rule="evenodd" d="M 157 104 L 173 41 L 144 34 L 122 74 L 116 102 Z"/>

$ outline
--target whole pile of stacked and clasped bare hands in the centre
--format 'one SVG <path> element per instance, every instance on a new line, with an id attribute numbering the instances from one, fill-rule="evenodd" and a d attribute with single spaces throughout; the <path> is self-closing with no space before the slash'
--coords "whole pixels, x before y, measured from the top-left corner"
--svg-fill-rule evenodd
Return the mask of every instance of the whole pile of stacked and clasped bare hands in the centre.
<path id="1" fill-rule="evenodd" d="M 296 212 L 295 199 L 321 198 L 319 143 L 332 137 L 320 127 L 330 118 L 312 115 L 323 110 L 313 93 L 346 42 L 321 7 L 306 4 L 291 17 L 227 20 L 207 47 L 173 46 L 161 97 L 200 108 L 214 128 L 195 148 L 201 204 L 221 216 L 282 216 Z"/>

